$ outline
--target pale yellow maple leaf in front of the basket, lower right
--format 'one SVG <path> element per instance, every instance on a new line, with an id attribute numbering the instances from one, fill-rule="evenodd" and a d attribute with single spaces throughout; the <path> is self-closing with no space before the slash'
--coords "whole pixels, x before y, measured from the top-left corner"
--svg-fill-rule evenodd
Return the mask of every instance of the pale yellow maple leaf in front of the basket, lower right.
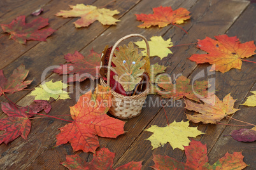
<path id="1" fill-rule="evenodd" d="M 184 150 L 183 146 L 188 146 L 190 140 L 188 137 L 195 138 L 199 134 L 204 134 L 201 131 L 197 130 L 197 127 L 188 127 L 189 123 L 187 122 L 172 122 L 169 126 L 166 127 L 158 127 L 156 125 L 151 126 L 145 131 L 152 132 L 152 136 L 150 136 L 146 140 L 151 141 L 152 150 L 154 148 L 158 148 L 165 143 L 169 142 L 171 147 L 180 148 Z"/>

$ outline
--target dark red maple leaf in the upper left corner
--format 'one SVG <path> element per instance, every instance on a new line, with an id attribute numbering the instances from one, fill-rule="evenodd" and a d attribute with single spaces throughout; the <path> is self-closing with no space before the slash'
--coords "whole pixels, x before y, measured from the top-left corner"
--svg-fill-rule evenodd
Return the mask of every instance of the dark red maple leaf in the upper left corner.
<path id="1" fill-rule="evenodd" d="M 1 27 L 4 32 L 10 33 L 10 39 L 25 44 L 27 40 L 46 41 L 46 37 L 55 32 L 52 28 L 42 29 L 48 24 L 48 19 L 41 17 L 32 20 L 30 23 L 25 23 L 25 15 L 22 15 L 8 25 L 1 24 Z"/>

